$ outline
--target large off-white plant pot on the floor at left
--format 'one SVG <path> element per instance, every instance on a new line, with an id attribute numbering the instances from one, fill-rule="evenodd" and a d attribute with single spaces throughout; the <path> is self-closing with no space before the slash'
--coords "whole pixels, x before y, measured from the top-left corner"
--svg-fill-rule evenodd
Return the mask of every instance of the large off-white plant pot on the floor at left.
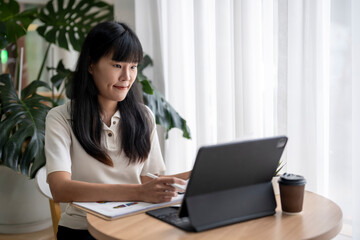
<path id="1" fill-rule="evenodd" d="M 28 233 L 52 225 L 49 200 L 34 179 L 0 166 L 0 233 Z"/>

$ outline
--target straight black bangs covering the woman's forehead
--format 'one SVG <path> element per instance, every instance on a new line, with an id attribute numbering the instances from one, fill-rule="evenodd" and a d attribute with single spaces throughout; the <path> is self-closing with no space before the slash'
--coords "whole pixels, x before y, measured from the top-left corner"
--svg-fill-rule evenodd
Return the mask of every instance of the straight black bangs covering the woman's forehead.
<path id="1" fill-rule="evenodd" d="M 112 54 L 112 59 L 117 62 L 140 63 L 143 60 L 143 50 L 138 38 L 127 30 L 114 42 Z"/>

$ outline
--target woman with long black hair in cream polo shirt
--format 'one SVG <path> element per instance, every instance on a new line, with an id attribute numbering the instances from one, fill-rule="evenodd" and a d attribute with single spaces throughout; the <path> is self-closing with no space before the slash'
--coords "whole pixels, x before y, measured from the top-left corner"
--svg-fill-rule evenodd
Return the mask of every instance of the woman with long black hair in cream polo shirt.
<path id="1" fill-rule="evenodd" d="M 132 87 L 143 57 L 137 36 L 125 24 L 104 22 L 87 35 L 78 59 L 71 101 L 46 118 L 48 183 L 56 202 L 166 202 L 189 172 L 161 175 L 154 116 Z M 58 239 L 92 239 L 85 213 L 68 205 Z"/>

